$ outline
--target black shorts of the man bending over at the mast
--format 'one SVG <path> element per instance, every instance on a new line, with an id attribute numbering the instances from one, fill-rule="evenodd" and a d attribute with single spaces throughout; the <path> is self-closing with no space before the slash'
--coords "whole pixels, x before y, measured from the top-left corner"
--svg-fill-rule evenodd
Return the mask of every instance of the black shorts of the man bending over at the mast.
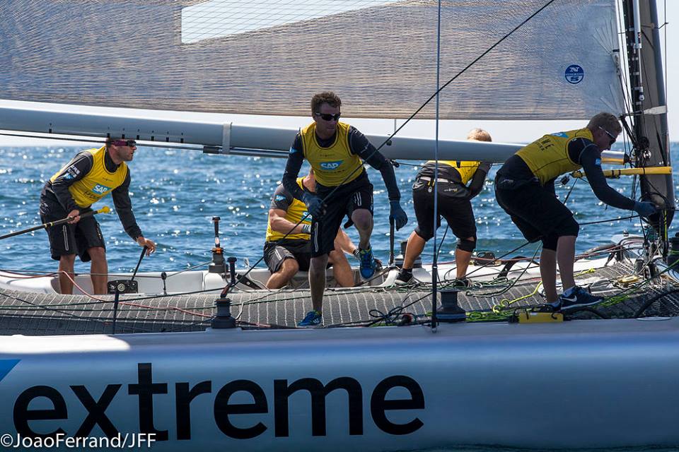
<path id="1" fill-rule="evenodd" d="M 495 198 L 523 237 L 530 242 L 542 240 L 543 247 L 556 250 L 556 242 L 562 236 L 576 236 L 579 225 L 573 213 L 559 201 L 552 191 L 538 182 L 521 182 L 512 189 L 498 188 L 495 178 Z"/>

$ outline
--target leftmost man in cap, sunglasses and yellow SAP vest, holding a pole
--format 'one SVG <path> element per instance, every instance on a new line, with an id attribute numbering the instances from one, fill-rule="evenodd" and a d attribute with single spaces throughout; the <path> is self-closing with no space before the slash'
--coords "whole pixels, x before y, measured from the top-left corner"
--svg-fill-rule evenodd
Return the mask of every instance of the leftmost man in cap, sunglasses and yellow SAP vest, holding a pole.
<path id="1" fill-rule="evenodd" d="M 132 161 L 135 150 L 134 140 L 108 138 L 101 148 L 78 153 L 45 183 L 40 194 L 42 222 L 73 218 L 66 225 L 47 230 L 52 258 L 59 261 L 62 294 L 73 293 L 76 254 L 83 262 L 92 261 L 94 293 L 106 293 L 108 263 L 104 238 L 94 216 L 81 220 L 80 215 L 91 211 L 90 206 L 109 193 L 129 237 L 146 246 L 147 255 L 156 251 L 156 244 L 141 234 L 129 199 L 129 167 L 125 162 Z"/>

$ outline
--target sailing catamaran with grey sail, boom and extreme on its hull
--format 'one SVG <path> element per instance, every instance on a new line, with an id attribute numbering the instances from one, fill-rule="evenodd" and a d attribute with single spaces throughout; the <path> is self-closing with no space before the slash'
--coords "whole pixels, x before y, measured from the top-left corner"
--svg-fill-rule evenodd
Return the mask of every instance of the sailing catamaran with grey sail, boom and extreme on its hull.
<path id="1" fill-rule="evenodd" d="M 439 93 L 441 119 L 585 119 L 606 109 L 620 115 L 631 141 L 627 157 L 611 157 L 639 172 L 670 166 L 652 0 L 625 0 L 618 9 L 613 0 L 445 1 L 438 39 L 436 2 L 337 2 L 358 6 L 297 11 L 255 28 L 233 27 L 242 19 L 219 8 L 231 3 L 5 1 L 0 97 L 302 114 L 299 99 L 332 86 L 352 99 L 343 111 L 349 117 L 407 117 L 439 86 L 432 77 L 438 40 L 441 76 L 455 79 Z M 220 15 L 231 22 L 215 26 Z M 332 61 L 304 70 L 319 63 L 311 52 L 318 42 L 332 43 Z M 431 104 L 420 114 L 437 117 Z M 284 154 L 295 133 L 30 103 L 0 107 L 0 129 L 269 156 Z M 518 148 L 439 141 L 434 155 L 431 140 L 369 138 L 393 159 L 501 162 Z M 0 337 L 0 425 L 26 438 L 151 435 L 163 450 L 675 446 L 673 184 L 671 174 L 639 181 L 662 213 L 644 237 L 613 237 L 603 257 L 579 261 L 579 280 L 608 298 L 569 322 L 540 311 L 530 259 L 504 266 L 479 259 L 484 278 L 509 281 L 509 303 L 487 290 L 439 292 L 444 303 L 457 299 L 467 322 L 437 324 L 429 288 L 388 290 L 391 270 L 330 300 L 331 325 L 355 328 L 313 331 L 285 328 L 303 311 L 303 290 L 262 292 L 256 273 L 239 278 L 219 258 L 216 271 L 188 274 L 176 287 L 178 279 L 161 275 L 139 280 L 139 292 L 161 297 L 114 287 L 115 301 L 103 302 L 40 295 L 50 292 L 42 283 L 28 287 L 5 273 L 0 328 L 16 335 Z M 431 266 L 417 271 L 431 279 Z M 214 312 L 215 295 L 172 296 L 187 292 L 190 278 L 200 290 L 228 281 L 235 288 Z M 10 311 L 27 304 L 40 310 Z M 371 318 L 370 309 L 386 314 Z M 61 335 L 33 335 L 40 333 Z M 563 427 L 571 433 L 555 434 Z"/>

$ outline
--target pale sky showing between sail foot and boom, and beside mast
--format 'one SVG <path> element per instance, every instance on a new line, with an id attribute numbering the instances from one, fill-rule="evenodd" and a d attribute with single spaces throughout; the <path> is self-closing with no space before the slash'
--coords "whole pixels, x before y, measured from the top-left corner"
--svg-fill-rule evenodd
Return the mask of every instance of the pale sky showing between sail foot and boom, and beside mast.
<path id="1" fill-rule="evenodd" d="M 668 25 L 666 30 L 666 41 L 668 43 L 679 42 L 679 0 L 657 0 L 658 21 L 663 22 L 666 18 Z M 665 42 L 665 34 L 661 32 L 661 40 Z M 671 141 L 679 141 L 679 50 L 677 45 L 668 46 L 666 64 L 668 86 L 666 90 L 668 100 L 668 124 Z M 663 52 L 664 55 L 664 52 Z M 1 101 L 0 101 L 1 103 Z M 79 107 L 75 107 L 76 109 Z M 115 109 L 112 109 L 114 112 Z M 158 114 L 156 112 L 155 116 Z M 168 119 L 188 119 L 209 122 L 233 121 L 236 124 L 252 124 L 260 126 L 274 126 L 297 129 L 310 121 L 308 117 L 259 117 L 245 116 L 237 114 L 185 114 L 178 112 L 168 112 L 162 115 Z M 356 126 L 357 129 L 367 134 L 385 134 L 394 131 L 395 126 L 400 126 L 403 120 L 393 121 L 391 119 L 368 120 L 343 118 L 343 121 Z M 489 131 L 494 141 L 501 143 L 528 143 L 535 140 L 545 133 L 577 129 L 584 126 L 583 121 L 441 121 L 439 124 L 439 138 L 441 139 L 464 139 L 467 132 L 475 127 L 482 127 Z M 412 121 L 407 124 L 400 136 L 421 136 L 434 138 L 434 121 Z M 9 138 L 0 136 L 0 145 L 76 145 L 74 142 L 52 141 L 36 138 Z"/>

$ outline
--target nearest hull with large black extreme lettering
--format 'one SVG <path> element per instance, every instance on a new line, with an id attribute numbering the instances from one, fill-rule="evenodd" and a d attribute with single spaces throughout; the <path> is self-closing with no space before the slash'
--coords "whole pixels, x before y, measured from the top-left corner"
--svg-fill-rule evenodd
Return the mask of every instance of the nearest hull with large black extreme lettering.
<path id="1" fill-rule="evenodd" d="M 74 436 L 88 414 L 76 391 L 110 391 L 108 432 L 156 429 L 168 437 L 158 451 L 679 444 L 676 318 L 12 336 L 0 338 L 3 367 L 5 432 L 32 416 L 33 432 Z M 145 382 L 155 393 L 140 397 Z M 25 408 L 33 397 L 50 420 Z"/>

